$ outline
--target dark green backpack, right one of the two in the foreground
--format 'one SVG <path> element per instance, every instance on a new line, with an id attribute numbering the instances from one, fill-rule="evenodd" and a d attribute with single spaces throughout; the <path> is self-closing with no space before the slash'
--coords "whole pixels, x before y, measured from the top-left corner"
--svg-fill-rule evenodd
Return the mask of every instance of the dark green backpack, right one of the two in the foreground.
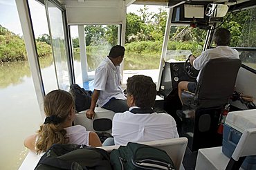
<path id="1" fill-rule="evenodd" d="M 114 170 L 175 169 L 172 159 L 165 151 L 133 142 L 113 149 L 110 162 Z"/>

